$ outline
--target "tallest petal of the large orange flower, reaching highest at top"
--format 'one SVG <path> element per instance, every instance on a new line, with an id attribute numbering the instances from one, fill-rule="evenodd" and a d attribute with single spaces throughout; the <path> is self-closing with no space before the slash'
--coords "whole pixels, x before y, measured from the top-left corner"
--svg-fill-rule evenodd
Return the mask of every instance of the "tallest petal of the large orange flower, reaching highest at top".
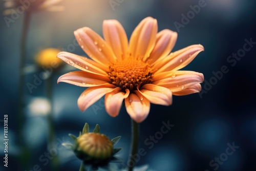
<path id="1" fill-rule="evenodd" d="M 152 17 L 144 18 L 131 35 L 129 42 L 131 55 L 142 59 L 150 56 L 156 43 L 156 35 L 157 20 Z"/>

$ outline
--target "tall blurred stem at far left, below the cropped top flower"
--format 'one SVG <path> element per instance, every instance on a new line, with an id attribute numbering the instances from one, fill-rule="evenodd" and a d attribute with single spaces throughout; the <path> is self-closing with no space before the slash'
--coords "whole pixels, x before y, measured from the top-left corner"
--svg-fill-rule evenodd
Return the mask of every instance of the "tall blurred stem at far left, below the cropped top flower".
<path id="1" fill-rule="evenodd" d="M 22 147 L 22 153 L 20 154 L 20 161 L 23 163 L 24 167 L 28 167 L 30 161 L 30 149 L 24 142 L 25 137 L 23 137 L 23 128 L 25 123 L 24 114 L 24 82 L 25 74 L 23 72 L 26 63 L 26 41 L 27 34 L 30 23 L 30 12 L 25 12 L 24 23 L 22 28 L 22 37 L 20 40 L 20 61 L 19 61 L 19 82 L 18 82 L 18 144 Z"/>

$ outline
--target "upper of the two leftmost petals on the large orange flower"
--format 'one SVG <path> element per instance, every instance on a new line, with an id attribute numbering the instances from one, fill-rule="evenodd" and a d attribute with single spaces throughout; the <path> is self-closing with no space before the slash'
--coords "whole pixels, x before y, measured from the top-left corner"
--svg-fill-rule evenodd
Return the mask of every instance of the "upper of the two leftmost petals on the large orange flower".
<path id="1" fill-rule="evenodd" d="M 69 52 L 60 52 L 57 54 L 57 57 L 67 62 L 69 65 L 82 71 L 101 75 L 107 75 L 106 72 L 108 72 L 107 67 L 102 66 L 87 57 L 75 55 Z"/>

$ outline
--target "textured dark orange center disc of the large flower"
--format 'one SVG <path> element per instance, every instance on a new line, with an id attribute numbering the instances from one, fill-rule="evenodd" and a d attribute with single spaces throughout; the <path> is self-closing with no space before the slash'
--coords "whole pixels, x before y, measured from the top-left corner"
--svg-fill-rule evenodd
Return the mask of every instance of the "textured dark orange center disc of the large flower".
<path id="1" fill-rule="evenodd" d="M 152 82 L 153 70 L 150 63 L 141 59 L 125 58 L 122 61 L 112 63 L 109 69 L 109 77 L 112 83 L 123 91 L 125 89 L 134 91 L 137 90 L 137 86 L 141 87 Z"/>

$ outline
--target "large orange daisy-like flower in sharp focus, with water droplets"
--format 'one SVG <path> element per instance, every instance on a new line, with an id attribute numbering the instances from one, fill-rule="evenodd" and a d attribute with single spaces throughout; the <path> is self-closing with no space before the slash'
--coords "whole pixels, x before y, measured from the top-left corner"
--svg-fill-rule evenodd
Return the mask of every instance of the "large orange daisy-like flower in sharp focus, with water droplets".
<path id="1" fill-rule="evenodd" d="M 76 30 L 79 45 L 91 59 L 60 52 L 57 57 L 82 71 L 62 75 L 58 82 L 89 87 L 78 98 L 81 111 L 105 95 L 105 110 L 115 117 L 124 99 L 127 113 L 138 123 L 147 117 L 150 103 L 170 105 L 172 95 L 200 92 L 203 74 L 178 70 L 203 51 L 203 46 L 170 53 L 177 33 L 157 31 L 157 20 L 152 17 L 140 22 L 129 43 L 117 20 L 104 20 L 104 39 L 88 27 Z"/>

